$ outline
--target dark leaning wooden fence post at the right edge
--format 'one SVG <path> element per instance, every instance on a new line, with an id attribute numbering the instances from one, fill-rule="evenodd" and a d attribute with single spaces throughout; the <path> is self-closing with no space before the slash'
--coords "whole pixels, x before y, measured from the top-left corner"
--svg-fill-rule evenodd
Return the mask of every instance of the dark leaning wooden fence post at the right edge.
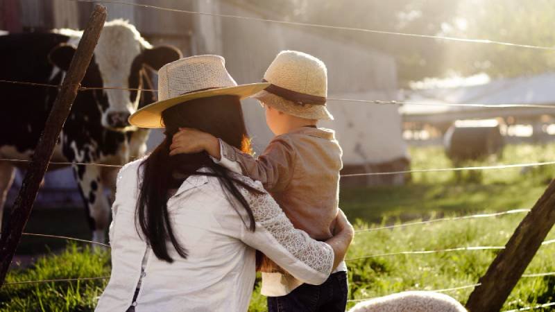
<path id="1" fill-rule="evenodd" d="M 470 294 L 470 312 L 499 311 L 555 223 L 555 180 L 518 225 Z"/>

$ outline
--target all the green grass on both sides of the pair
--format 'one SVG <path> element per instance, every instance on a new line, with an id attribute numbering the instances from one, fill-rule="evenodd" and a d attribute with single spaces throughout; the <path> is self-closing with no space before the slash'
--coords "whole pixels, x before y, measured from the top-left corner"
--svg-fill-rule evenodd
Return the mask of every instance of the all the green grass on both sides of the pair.
<path id="1" fill-rule="evenodd" d="M 413 168 L 453 166 L 441 148 L 411 149 Z M 461 166 L 488 166 L 545 162 L 555 159 L 555 144 L 507 146 L 500 159 L 483 159 Z M 357 228 L 377 227 L 407 220 L 460 216 L 477 212 L 529 208 L 543 193 L 555 166 L 510 168 L 447 173 L 416 173 L 402 187 L 342 189 L 341 207 Z M 80 211 L 82 214 L 82 211 Z M 502 246 L 524 214 L 495 218 L 445 221 L 429 225 L 361 232 L 348 258 L 409 250 L 440 250 L 463 246 Z M 82 216 L 80 216 L 83 218 Z M 46 219 L 45 219 L 46 218 Z M 42 223 L 56 223 L 47 214 Z M 58 221 L 58 224 L 60 221 Z M 31 226 L 31 225 L 30 225 Z M 62 228 L 63 229 L 63 228 Z M 86 233 L 86 227 L 84 228 Z M 28 229 L 28 232 L 40 232 Z M 60 232 L 57 232 L 60 234 Z M 79 235 L 85 235 L 83 233 Z M 555 230 L 547 239 L 555 239 Z M 51 243 L 42 241 L 40 243 Z M 35 241 L 36 243 L 36 241 Z M 26 250 L 32 250 L 28 242 Z M 51 245 L 54 247 L 54 245 Z M 44 248 L 40 246 L 40 248 Z M 494 259 L 497 250 L 438 252 L 434 254 L 368 257 L 348 261 L 350 299 L 377 297 L 407 290 L 438 290 L 475 284 Z M 540 248 L 527 274 L 554 272 L 555 244 Z M 26 270 L 12 270 L 9 281 L 109 275 L 109 256 L 71 244 L 60 254 L 50 253 Z M 26 284 L 0 289 L 1 311 L 92 311 L 106 281 Z M 466 302 L 472 288 L 447 292 Z M 503 310 L 520 309 L 555 301 L 555 276 L 523 277 Z M 42 304 L 42 306 L 41 306 Z M 349 306 L 352 306 L 350 304 Z M 255 286 L 250 311 L 266 311 L 264 297 Z M 546 309 L 547 311 L 547 309 Z"/>

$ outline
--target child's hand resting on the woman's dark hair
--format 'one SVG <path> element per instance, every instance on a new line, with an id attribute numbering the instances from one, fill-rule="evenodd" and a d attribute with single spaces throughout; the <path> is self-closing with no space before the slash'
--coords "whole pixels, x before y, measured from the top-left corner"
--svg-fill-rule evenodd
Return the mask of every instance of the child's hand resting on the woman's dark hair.
<path id="1" fill-rule="evenodd" d="M 193 128 L 179 128 L 179 132 L 173 135 L 169 155 L 200 153 L 204 150 L 220 159 L 220 142 L 216 137 Z"/>

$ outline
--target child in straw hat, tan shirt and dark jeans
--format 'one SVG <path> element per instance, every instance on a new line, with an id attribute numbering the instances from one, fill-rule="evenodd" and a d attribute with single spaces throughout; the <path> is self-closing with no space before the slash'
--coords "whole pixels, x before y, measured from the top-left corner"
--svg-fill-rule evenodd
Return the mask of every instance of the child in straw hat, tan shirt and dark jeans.
<path id="1" fill-rule="evenodd" d="M 306 53 L 282 51 L 264 81 L 271 85 L 254 97 L 266 108 L 266 123 L 275 137 L 262 155 L 254 158 L 194 129 L 173 137 L 170 155 L 206 150 L 215 162 L 262 182 L 296 228 L 324 241 L 332 237 L 339 211 L 343 166 L 334 131 L 317 127 L 319 119 L 333 119 L 325 107 L 325 64 Z M 345 263 L 324 284 L 314 286 L 264 259 L 261 293 L 268 296 L 269 311 L 345 311 Z"/>

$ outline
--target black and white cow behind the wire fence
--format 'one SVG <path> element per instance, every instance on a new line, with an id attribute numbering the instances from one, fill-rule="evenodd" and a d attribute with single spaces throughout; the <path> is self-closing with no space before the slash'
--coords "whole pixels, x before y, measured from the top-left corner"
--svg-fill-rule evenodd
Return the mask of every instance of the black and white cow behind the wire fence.
<path id="1" fill-rule="evenodd" d="M 0 79 L 58 85 L 65 76 L 82 33 L 71 30 L 0 36 Z M 150 88 L 147 71 L 181 57 L 170 46 L 153 47 L 135 26 L 114 20 L 105 24 L 83 87 Z M 149 68 L 147 70 L 147 68 Z M 58 89 L 0 83 L 0 157 L 30 159 Z M 146 151 L 148 130 L 128 124 L 140 105 L 154 101 L 151 92 L 94 89 L 78 92 L 65 122 L 53 162 L 125 164 Z M 15 164 L 0 162 L 0 221 Z M 110 216 L 105 188 L 113 191 L 117 168 L 74 165 L 94 241 L 104 241 Z M 1 224 L 1 223 L 0 223 Z"/>

